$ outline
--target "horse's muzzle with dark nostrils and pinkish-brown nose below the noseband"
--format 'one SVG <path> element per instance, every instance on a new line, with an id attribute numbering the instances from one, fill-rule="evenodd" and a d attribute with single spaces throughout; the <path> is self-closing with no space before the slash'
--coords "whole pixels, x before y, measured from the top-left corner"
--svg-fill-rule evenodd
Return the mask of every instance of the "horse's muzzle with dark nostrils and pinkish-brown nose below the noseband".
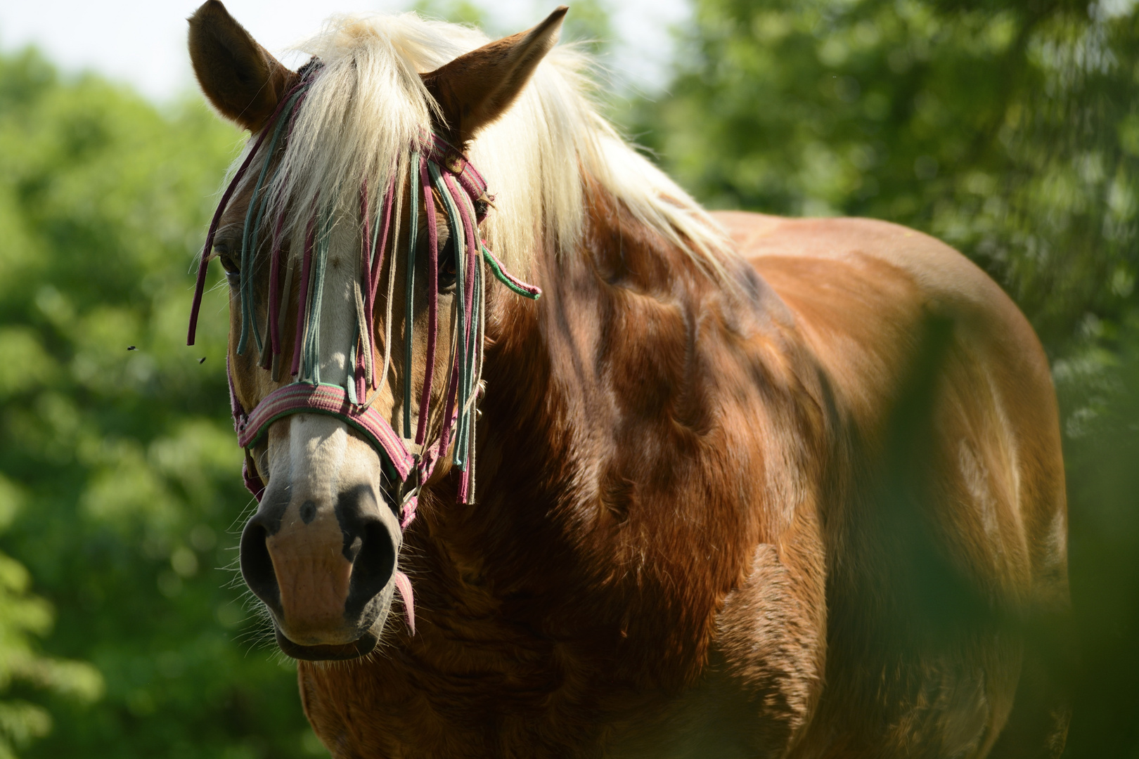
<path id="1" fill-rule="evenodd" d="M 395 591 L 402 541 L 371 485 L 314 497 L 270 481 L 241 533 L 241 575 L 269 609 L 281 651 L 296 659 L 354 659 L 379 641 Z"/>

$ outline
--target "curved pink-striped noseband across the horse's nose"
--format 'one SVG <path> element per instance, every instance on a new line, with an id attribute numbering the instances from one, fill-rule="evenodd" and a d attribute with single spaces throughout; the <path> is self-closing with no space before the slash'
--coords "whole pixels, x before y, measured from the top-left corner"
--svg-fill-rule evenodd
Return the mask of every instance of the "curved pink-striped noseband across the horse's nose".
<path id="1" fill-rule="evenodd" d="M 370 406 L 361 409 L 349 402 L 349 394 L 338 385 L 294 382 L 273 390 L 257 404 L 247 419 L 239 422 L 237 442 L 243 448 L 256 444 L 269 426 L 289 414 L 327 414 L 354 428 L 369 443 L 387 454 L 401 480 L 415 468 L 415 457 L 403 445 L 387 420 Z"/>

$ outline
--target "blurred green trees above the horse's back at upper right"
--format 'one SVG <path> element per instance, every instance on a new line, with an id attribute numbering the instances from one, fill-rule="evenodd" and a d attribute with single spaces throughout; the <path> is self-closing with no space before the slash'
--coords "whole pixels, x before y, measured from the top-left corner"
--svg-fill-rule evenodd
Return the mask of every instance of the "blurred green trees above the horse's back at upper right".
<path id="1" fill-rule="evenodd" d="M 1064 352 L 1137 300 L 1137 25 L 1130 0 L 697 0 L 629 123 L 714 207 L 940 237 Z"/>

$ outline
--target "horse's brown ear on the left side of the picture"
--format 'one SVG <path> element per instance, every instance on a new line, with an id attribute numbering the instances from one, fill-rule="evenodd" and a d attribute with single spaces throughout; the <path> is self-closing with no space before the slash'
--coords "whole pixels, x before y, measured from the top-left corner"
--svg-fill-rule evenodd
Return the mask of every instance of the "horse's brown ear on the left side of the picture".
<path id="1" fill-rule="evenodd" d="M 202 91 L 222 116 L 257 132 L 296 83 L 289 71 L 233 20 L 219 0 L 207 0 L 190 22 L 190 61 Z"/>

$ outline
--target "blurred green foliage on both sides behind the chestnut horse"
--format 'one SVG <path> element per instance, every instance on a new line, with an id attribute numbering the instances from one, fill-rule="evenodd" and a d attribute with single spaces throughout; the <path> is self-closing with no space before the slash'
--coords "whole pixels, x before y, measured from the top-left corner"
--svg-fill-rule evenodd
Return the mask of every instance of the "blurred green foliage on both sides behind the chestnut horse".
<path id="1" fill-rule="evenodd" d="M 603 58 L 607 9 L 568 17 Z M 1133 5 L 696 0 L 678 41 L 661 94 L 605 107 L 697 198 L 931 232 L 1032 320 L 1068 473 L 1065 756 L 1139 757 Z M 235 571 L 222 290 L 183 345 L 240 145 L 197 96 L 0 53 L 0 759 L 325 754 Z"/>

